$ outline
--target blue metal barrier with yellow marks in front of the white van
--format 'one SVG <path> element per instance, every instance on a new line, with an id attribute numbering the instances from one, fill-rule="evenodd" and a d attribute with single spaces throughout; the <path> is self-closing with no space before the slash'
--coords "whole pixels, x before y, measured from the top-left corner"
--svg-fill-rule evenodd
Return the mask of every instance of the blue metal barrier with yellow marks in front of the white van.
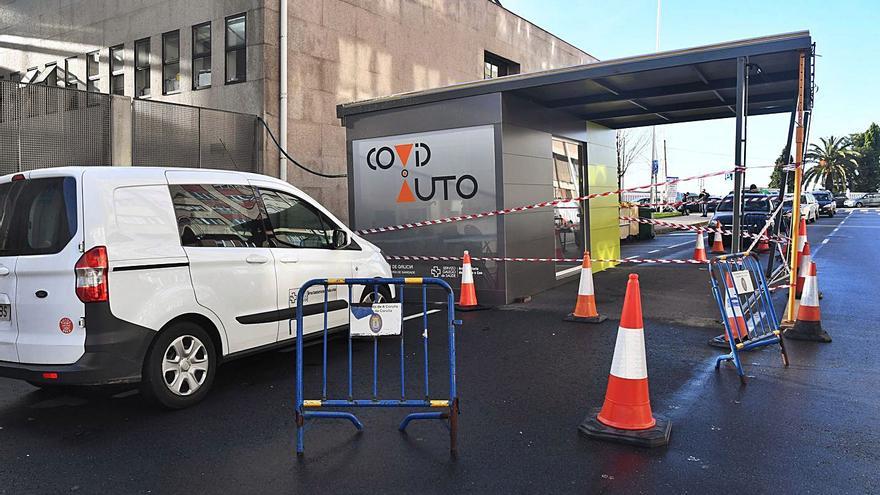
<path id="1" fill-rule="evenodd" d="M 324 286 L 324 330 L 323 330 L 323 386 L 321 391 L 321 399 L 305 399 L 303 396 L 303 297 L 308 289 L 315 285 Z M 396 288 L 396 293 L 400 295 L 399 303 L 403 305 L 404 291 L 403 286 L 420 286 L 422 292 L 422 349 L 424 356 L 424 398 L 408 399 L 406 397 L 406 360 L 404 359 L 404 332 L 401 328 L 400 336 L 386 337 L 397 338 L 400 341 L 400 398 L 399 399 L 380 399 L 378 397 L 378 355 L 379 355 L 379 338 L 372 337 L 373 340 L 373 394 L 370 399 L 355 399 L 352 385 L 352 335 L 351 329 L 348 331 L 348 395 L 345 399 L 330 399 L 327 394 L 327 291 L 331 285 L 347 285 L 348 300 L 352 301 L 352 286 L 362 285 L 372 287 L 374 298 L 378 294 L 380 286 L 391 286 Z M 428 380 L 428 302 L 427 291 L 428 286 L 434 285 L 446 291 L 447 301 L 447 318 L 446 325 L 448 329 L 449 339 L 449 397 L 446 399 L 431 399 L 430 387 Z M 414 412 L 408 414 L 400 423 L 399 430 L 404 431 L 409 423 L 419 419 L 439 419 L 449 420 L 449 442 L 450 451 L 455 454 L 457 450 L 457 433 L 458 433 L 458 395 L 455 385 L 455 325 L 460 325 L 461 321 L 455 319 L 455 296 L 452 288 L 439 278 L 336 278 L 336 279 L 313 279 L 309 280 L 299 289 L 296 298 L 296 452 L 302 455 L 304 450 L 304 434 L 305 422 L 310 418 L 335 418 L 345 419 L 358 430 L 363 429 L 363 424 L 352 413 L 340 411 L 313 411 L 308 409 L 319 408 L 356 408 L 356 407 L 408 407 L 420 408 L 428 407 L 433 409 L 443 409 L 442 411 L 431 412 Z"/>

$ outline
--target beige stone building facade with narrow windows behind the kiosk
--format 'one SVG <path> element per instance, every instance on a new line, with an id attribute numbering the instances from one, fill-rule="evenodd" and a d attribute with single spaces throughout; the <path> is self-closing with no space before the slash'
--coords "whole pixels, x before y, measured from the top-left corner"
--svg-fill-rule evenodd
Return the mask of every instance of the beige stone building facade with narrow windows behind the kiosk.
<path id="1" fill-rule="evenodd" d="M 277 134 L 280 1 L 6 2 L 0 76 L 256 114 Z M 287 1 L 288 151 L 324 173 L 346 171 L 337 104 L 596 61 L 490 0 Z M 264 143 L 264 173 L 278 176 Z M 287 167 L 348 216 L 345 180 Z"/>

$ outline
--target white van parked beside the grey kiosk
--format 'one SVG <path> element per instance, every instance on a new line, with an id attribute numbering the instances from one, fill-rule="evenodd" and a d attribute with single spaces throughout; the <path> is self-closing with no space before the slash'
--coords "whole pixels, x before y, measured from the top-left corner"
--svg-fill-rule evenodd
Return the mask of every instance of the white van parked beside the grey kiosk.
<path id="1" fill-rule="evenodd" d="M 6 175 L 0 376 L 38 387 L 140 382 L 145 396 L 186 407 L 221 362 L 293 343 L 291 308 L 307 280 L 390 276 L 379 248 L 271 177 L 146 167 Z M 356 302 L 394 296 L 356 289 Z M 305 297 L 307 314 L 323 312 L 323 287 Z M 348 289 L 331 286 L 328 298 L 328 326 L 345 328 Z M 304 326 L 320 332 L 323 316 Z"/>

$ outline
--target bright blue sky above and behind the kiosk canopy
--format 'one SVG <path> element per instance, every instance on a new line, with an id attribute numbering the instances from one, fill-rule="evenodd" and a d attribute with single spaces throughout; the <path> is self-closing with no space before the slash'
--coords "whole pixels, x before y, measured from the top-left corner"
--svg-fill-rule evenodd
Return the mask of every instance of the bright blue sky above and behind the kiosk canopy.
<path id="1" fill-rule="evenodd" d="M 657 0 L 502 0 L 505 8 L 565 41 L 609 60 L 655 51 Z M 613 7 L 610 7 L 613 5 Z M 880 0 L 661 0 L 660 50 L 809 30 L 816 43 L 816 100 L 810 142 L 848 135 L 880 121 Z M 750 117 L 746 166 L 772 165 L 785 145 L 790 114 Z M 733 166 L 734 119 L 657 127 L 666 140 L 670 176 L 686 177 Z M 650 132 L 645 129 L 644 132 Z M 650 182 L 650 146 L 625 186 Z M 746 184 L 766 186 L 771 169 L 746 172 Z M 662 172 L 661 172 L 662 174 Z M 662 178 L 662 176 L 661 176 Z M 707 179 L 724 194 L 732 181 Z M 696 181 L 679 191 L 696 192 Z"/>

